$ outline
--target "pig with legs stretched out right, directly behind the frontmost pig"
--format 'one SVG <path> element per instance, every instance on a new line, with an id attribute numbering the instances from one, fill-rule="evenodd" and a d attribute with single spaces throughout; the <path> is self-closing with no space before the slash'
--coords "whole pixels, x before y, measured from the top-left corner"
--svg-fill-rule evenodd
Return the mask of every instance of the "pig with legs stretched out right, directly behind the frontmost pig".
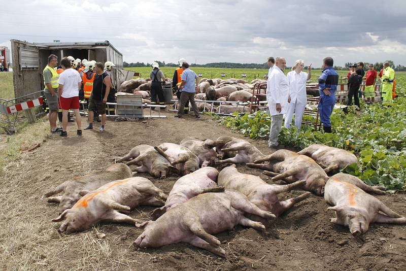
<path id="1" fill-rule="evenodd" d="M 312 193 L 306 192 L 300 196 L 290 198 L 284 201 L 279 201 L 278 194 L 289 192 L 296 187 L 302 186 L 306 181 L 297 181 L 288 185 L 267 184 L 258 176 L 239 173 L 235 165 L 223 168 L 218 177 L 218 184 L 225 189 L 234 189 L 246 195 L 248 199 L 255 204 L 259 209 L 271 212 L 278 217 L 280 214 L 290 209 L 297 202 L 308 198 Z M 250 217 L 254 221 L 259 221 L 269 226 L 269 222 L 261 217 Z"/>

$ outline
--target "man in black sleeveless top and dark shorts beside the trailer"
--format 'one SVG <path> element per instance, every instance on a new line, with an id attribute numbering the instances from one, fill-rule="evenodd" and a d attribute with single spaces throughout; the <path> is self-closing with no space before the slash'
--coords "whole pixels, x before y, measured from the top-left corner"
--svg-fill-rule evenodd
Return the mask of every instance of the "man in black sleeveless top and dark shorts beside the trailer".
<path id="1" fill-rule="evenodd" d="M 101 62 L 96 62 L 94 65 L 96 75 L 93 81 L 93 90 L 89 98 L 89 125 L 84 130 L 93 129 L 94 111 L 101 114 L 100 131 L 105 130 L 106 124 L 106 103 L 110 89 L 112 89 L 111 79 L 108 73 L 104 72 L 104 65 Z"/>

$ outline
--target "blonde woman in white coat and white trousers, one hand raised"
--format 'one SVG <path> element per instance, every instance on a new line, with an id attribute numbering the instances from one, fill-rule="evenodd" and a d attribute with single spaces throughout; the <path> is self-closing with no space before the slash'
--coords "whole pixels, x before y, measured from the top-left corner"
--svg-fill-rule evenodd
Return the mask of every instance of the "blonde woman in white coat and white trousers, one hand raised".
<path id="1" fill-rule="evenodd" d="M 287 75 L 289 97 L 285 115 L 285 127 L 290 127 L 294 114 L 297 132 L 300 130 L 301 119 L 303 117 L 304 108 L 306 108 L 306 82 L 312 77 L 312 64 L 308 66 L 308 73 L 302 72 L 303 67 L 304 61 L 301 59 L 296 60 L 292 71 Z"/>

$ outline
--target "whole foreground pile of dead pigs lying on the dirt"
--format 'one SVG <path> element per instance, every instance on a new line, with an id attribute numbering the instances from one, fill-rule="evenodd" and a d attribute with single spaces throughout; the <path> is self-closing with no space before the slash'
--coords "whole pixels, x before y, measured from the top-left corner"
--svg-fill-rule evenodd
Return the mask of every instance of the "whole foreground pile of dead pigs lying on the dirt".
<path id="1" fill-rule="evenodd" d="M 144 229 L 134 241 L 137 249 L 185 242 L 225 256 L 213 234 L 236 225 L 265 231 L 312 193 L 324 194 L 332 206 L 328 210 L 335 212 L 331 222 L 348 226 L 354 236 L 367 231 L 370 223 L 406 223 L 405 217 L 368 194 L 384 194 L 383 187 L 368 186 L 344 173 L 329 177 L 327 173 L 334 174 L 357 158 L 325 145 L 311 145 L 298 153 L 281 149 L 264 155 L 243 139 L 188 137 L 179 144 L 136 146 L 116 162 L 105 171 L 66 181 L 45 195 L 49 202 L 59 203 L 60 215 L 52 220 L 62 222 L 59 232 L 83 231 L 102 222 L 129 223 Z M 219 172 L 215 166 L 224 163 L 232 165 Z M 287 184 L 268 184 L 258 176 L 240 173 L 235 164 L 261 168 L 272 180 Z M 166 195 L 151 180 L 134 177 L 137 173 L 180 178 Z M 278 199 L 278 194 L 294 189 L 306 192 Z M 54 196 L 57 193 L 63 194 Z M 157 207 L 151 220 L 139 221 L 128 215 L 142 205 Z"/>

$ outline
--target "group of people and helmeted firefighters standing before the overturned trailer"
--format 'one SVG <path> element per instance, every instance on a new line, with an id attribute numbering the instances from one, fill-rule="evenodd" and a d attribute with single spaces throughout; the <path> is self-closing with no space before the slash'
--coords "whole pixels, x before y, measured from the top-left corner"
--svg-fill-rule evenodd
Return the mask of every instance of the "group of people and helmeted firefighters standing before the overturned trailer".
<path id="1" fill-rule="evenodd" d="M 58 57 L 51 54 L 48 57 L 48 65 L 43 70 L 44 94 L 49 108 L 51 132 L 60 132 L 62 137 L 67 137 L 66 127 L 70 109 L 75 114 L 77 134 L 82 135 L 79 113 L 82 95 L 89 109 L 89 125 L 84 129 L 93 128 L 94 112 L 101 114 L 100 131 L 105 129 L 106 103 L 109 92 L 113 89 L 111 71 L 114 63 L 107 61 L 103 64 L 85 60 L 80 61 L 72 56 L 64 57 L 58 67 Z M 62 110 L 62 127 L 56 126 L 59 110 Z"/>

